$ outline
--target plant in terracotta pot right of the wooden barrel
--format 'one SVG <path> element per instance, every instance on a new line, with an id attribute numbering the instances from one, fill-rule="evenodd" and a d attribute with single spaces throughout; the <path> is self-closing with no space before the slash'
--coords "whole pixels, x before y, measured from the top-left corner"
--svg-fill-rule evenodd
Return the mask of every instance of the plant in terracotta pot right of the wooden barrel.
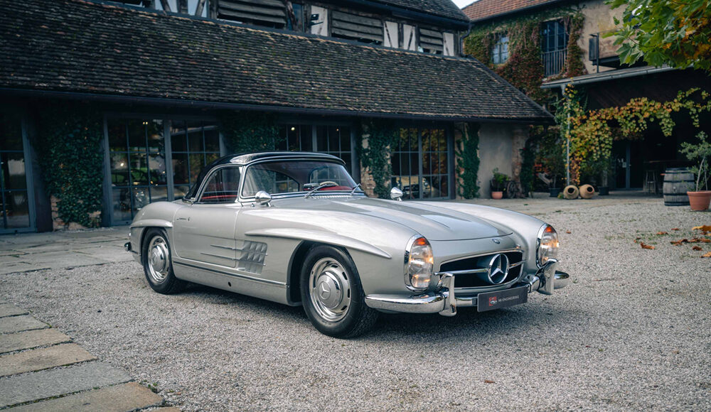
<path id="1" fill-rule="evenodd" d="M 700 131 L 696 137 L 699 139 L 696 144 L 681 143 L 680 153 L 690 161 L 696 162 L 695 166 L 690 168 L 691 172 L 696 175 L 695 190 L 689 190 L 686 194 L 689 196 L 691 210 L 707 210 L 711 202 L 711 190 L 709 190 L 711 142 L 706 140 L 707 135 L 703 131 Z"/>

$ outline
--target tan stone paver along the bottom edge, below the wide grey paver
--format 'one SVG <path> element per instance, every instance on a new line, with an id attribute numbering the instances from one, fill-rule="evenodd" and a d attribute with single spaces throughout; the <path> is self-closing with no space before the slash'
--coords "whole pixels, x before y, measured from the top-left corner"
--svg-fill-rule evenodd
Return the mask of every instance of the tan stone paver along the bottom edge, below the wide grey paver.
<path id="1" fill-rule="evenodd" d="M 163 398 L 135 382 L 11 408 L 12 412 L 127 412 L 159 406 Z M 166 411 L 161 408 L 160 411 Z M 174 409 L 178 411 L 178 409 Z"/>

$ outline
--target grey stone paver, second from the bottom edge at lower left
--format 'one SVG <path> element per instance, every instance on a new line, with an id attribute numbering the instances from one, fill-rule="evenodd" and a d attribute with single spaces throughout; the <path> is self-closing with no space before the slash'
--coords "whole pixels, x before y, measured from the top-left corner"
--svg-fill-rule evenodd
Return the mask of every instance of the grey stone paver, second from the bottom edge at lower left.
<path id="1" fill-rule="evenodd" d="M 122 369 L 104 362 L 0 378 L 0 408 L 130 381 Z"/>

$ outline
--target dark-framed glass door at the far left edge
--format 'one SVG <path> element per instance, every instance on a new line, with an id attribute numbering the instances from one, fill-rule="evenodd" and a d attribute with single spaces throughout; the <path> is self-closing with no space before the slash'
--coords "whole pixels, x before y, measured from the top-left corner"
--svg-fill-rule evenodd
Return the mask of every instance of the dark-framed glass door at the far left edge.
<path id="1" fill-rule="evenodd" d="M 21 118 L 0 113 L 0 233 L 34 229 L 25 148 Z"/>

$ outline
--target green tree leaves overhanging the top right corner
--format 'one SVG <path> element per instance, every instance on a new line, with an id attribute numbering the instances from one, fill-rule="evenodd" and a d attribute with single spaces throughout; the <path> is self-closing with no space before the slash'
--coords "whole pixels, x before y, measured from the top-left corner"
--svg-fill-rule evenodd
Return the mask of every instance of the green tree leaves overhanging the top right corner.
<path id="1" fill-rule="evenodd" d="M 608 0 L 625 7 L 617 36 L 623 63 L 643 59 L 652 66 L 711 72 L 711 5 L 708 0 Z"/>

